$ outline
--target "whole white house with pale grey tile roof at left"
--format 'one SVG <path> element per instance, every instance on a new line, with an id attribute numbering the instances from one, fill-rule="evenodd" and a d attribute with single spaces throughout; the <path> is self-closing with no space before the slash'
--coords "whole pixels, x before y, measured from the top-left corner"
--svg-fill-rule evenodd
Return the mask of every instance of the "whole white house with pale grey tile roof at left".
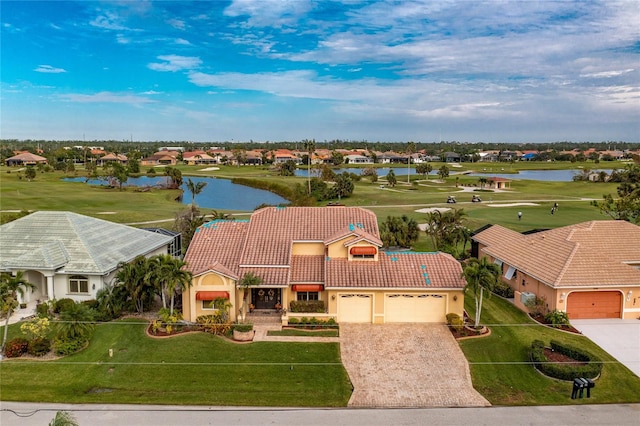
<path id="1" fill-rule="evenodd" d="M 120 262 L 168 253 L 172 236 L 72 212 L 39 211 L 0 226 L 0 271 L 35 284 L 24 300 L 95 299 Z"/>

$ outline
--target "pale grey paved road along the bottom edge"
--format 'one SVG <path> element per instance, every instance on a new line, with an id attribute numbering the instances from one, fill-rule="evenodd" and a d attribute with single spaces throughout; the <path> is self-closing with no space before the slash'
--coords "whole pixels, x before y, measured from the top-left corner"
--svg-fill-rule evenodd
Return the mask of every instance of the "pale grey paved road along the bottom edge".
<path id="1" fill-rule="evenodd" d="M 300 409 L 0 402 L 2 426 L 47 425 L 58 410 L 80 426 L 616 425 L 640 424 L 640 404 L 422 409 Z"/>

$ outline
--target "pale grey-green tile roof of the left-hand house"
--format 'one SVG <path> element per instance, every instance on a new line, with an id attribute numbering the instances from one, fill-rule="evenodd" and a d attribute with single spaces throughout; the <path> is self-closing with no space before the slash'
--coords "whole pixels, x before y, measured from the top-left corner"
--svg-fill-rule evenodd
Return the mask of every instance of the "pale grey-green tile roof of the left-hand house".
<path id="1" fill-rule="evenodd" d="M 72 212 L 40 211 L 0 226 L 0 269 L 107 274 L 172 238 Z"/>

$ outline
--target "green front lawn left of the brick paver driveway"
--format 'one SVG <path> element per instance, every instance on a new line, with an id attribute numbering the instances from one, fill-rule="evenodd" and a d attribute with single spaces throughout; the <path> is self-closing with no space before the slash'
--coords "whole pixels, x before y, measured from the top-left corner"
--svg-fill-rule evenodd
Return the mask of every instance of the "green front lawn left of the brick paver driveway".
<path id="1" fill-rule="evenodd" d="M 205 333 L 153 339 L 144 328 L 105 323 L 76 355 L 3 361 L 0 399 L 344 407 L 351 395 L 337 343 L 236 344 Z"/>

